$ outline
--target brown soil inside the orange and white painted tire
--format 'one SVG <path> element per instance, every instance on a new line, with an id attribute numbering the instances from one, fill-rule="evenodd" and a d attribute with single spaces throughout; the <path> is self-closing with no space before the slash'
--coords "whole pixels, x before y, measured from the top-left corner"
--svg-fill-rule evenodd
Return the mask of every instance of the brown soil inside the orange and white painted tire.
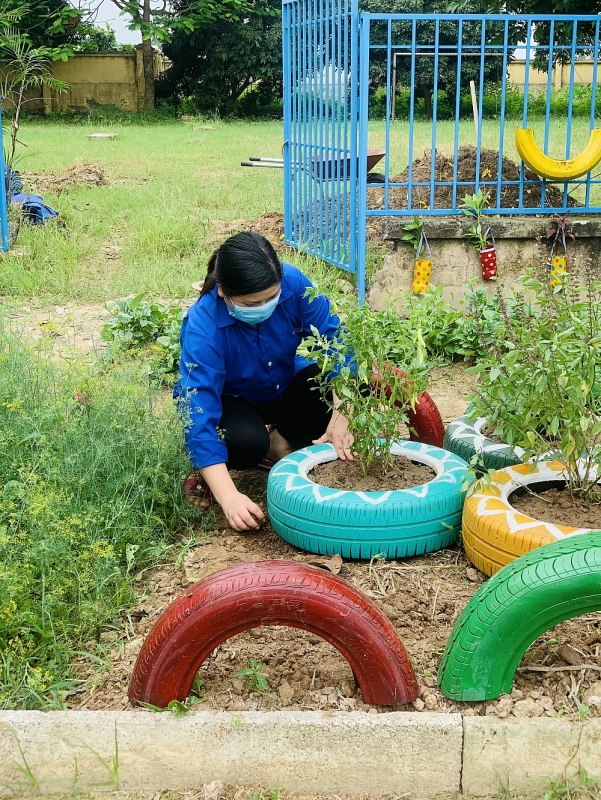
<path id="1" fill-rule="evenodd" d="M 548 489 L 540 494 L 514 492 L 509 496 L 509 502 L 523 514 L 542 522 L 601 530 L 601 504 L 572 496 L 565 489 Z"/>

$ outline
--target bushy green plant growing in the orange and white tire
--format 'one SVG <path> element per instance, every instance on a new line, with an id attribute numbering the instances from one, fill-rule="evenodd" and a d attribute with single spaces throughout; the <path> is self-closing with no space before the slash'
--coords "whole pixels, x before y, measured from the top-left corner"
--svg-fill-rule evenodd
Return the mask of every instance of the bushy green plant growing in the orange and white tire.
<path id="1" fill-rule="evenodd" d="M 559 461 L 571 493 L 601 500 L 601 282 L 564 283 L 553 293 L 527 274 L 514 316 L 501 299 L 502 330 L 470 371 L 479 376 L 472 416 L 485 417 L 503 442 L 524 449 L 524 460 Z M 531 302 L 538 310 L 532 313 Z M 478 315 L 478 310 L 475 310 Z"/>

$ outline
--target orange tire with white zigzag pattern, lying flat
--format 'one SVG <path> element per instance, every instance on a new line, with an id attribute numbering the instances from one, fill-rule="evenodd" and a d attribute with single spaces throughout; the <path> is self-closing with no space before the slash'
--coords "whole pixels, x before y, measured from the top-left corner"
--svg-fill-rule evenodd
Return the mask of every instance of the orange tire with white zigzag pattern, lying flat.
<path id="1" fill-rule="evenodd" d="M 463 507 L 463 544 L 469 560 L 492 575 L 514 558 L 543 544 L 564 539 L 590 528 L 570 528 L 528 517 L 509 502 L 510 494 L 521 486 L 538 485 L 539 490 L 562 482 L 563 467 L 558 461 L 515 464 L 481 479 L 468 491 Z"/>

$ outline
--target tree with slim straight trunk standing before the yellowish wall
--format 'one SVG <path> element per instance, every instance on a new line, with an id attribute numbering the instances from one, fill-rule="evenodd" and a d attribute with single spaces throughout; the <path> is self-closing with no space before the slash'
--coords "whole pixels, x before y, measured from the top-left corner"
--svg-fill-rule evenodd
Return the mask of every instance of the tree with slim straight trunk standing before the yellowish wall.
<path id="1" fill-rule="evenodd" d="M 90 11 L 99 0 L 89 0 Z M 194 31 L 215 20 L 236 21 L 246 12 L 247 0 L 111 0 L 129 17 L 129 28 L 142 33 L 144 108 L 154 108 L 154 52 L 152 42 L 165 44 L 179 31 Z"/>

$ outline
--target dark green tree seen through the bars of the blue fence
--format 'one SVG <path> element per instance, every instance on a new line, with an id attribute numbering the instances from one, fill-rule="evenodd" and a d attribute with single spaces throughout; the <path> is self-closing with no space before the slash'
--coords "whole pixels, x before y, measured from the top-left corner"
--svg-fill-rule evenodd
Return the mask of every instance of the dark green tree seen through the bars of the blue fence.
<path id="1" fill-rule="evenodd" d="M 361 0 L 361 8 L 373 13 L 394 14 L 435 14 L 447 10 L 445 0 Z M 477 13 L 480 11 L 477 0 L 466 0 L 462 11 Z M 372 42 L 386 43 L 386 23 L 372 22 Z M 401 48 L 401 42 L 410 44 L 412 35 L 412 21 L 397 21 L 392 26 L 392 41 L 395 51 Z M 500 35 L 502 28 L 498 23 L 489 23 L 486 26 L 486 42 L 490 44 Z M 466 22 L 463 25 L 463 42 L 480 46 L 480 22 Z M 431 45 L 434 49 L 435 22 L 433 20 L 418 21 L 416 39 L 418 44 Z M 454 21 L 441 20 L 439 23 L 439 42 L 449 49 L 456 50 L 458 26 Z M 517 43 L 517 34 L 512 38 Z M 500 77 L 501 59 L 487 59 L 484 66 L 485 80 L 498 80 Z M 404 86 L 411 86 L 411 54 L 397 56 L 397 79 Z M 461 63 L 460 86 L 465 88 L 469 82 L 480 80 L 480 59 L 465 57 Z M 386 85 L 386 52 L 372 51 L 370 61 L 370 83 L 374 88 Z M 438 90 L 446 92 L 453 97 L 457 88 L 457 56 L 440 55 L 438 59 Z M 424 98 L 425 112 L 428 119 L 432 118 L 432 95 L 434 91 L 434 58 L 417 56 L 415 59 L 415 91 L 416 96 Z"/>

